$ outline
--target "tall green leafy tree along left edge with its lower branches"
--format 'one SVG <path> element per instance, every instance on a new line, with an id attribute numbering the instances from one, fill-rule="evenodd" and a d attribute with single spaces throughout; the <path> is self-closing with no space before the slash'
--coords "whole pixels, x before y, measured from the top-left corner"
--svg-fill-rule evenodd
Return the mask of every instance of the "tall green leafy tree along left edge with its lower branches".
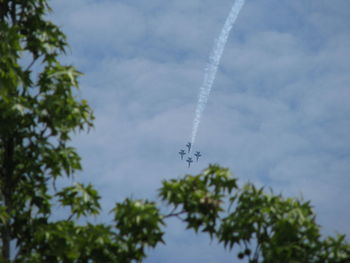
<path id="1" fill-rule="evenodd" d="M 145 247 L 161 241 L 153 203 L 117 205 L 115 226 L 78 225 L 75 219 L 99 213 L 98 193 L 91 185 L 55 187 L 81 169 L 68 143 L 94 117 L 76 96 L 81 73 L 59 62 L 66 37 L 46 20 L 49 11 L 46 0 L 0 1 L 0 261 L 140 261 Z M 53 220 L 55 203 L 70 209 L 67 219 Z M 124 219 L 147 213 L 133 227 L 148 235 L 125 235 L 134 233 L 120 220 L 125 207 Z"/>

